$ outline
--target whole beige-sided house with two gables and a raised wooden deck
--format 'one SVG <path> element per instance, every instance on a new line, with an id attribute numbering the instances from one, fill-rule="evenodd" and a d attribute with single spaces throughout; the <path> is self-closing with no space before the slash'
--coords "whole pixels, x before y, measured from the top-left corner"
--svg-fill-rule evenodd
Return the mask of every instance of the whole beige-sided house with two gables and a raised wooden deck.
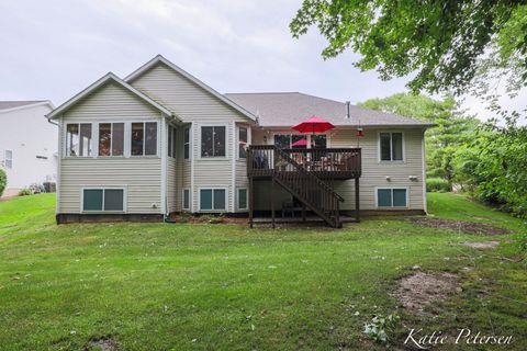
<path id="1" fill-rule="evenodd" d="M 291 129 L 312 115 L 335 128 Z M 160 55 L 47 117 L 60 125 L 58 223 L 291 203 L 333 226 L 338 210 L 426 213 L 423 121 L 302 93 L 221 94 Z"/>

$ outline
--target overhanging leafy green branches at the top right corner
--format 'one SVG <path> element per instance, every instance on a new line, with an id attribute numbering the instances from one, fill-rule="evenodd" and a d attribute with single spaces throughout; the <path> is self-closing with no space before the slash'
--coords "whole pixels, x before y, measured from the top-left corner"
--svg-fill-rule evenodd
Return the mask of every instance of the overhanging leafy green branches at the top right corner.
<path id="1" fill-rule="evenodd" d="M 513 89 L 527 81 L 525 0 L 304 0 L 291 32 L 313 25 L 328 41 L 324 58 L 350 48 L 357 67 L 382 79 L 414 75 L 414 92 L 461 94 L 513 69 Z"/>

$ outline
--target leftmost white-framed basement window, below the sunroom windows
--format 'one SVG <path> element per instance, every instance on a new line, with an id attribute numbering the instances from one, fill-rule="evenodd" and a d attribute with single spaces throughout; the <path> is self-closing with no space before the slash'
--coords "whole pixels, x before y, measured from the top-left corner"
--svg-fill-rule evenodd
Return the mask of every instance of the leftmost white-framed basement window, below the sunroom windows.
<path id="1" fill-rule="evenodd" d="M 124 212 L 124 189 L 83 189 L 83 212 Z"/>

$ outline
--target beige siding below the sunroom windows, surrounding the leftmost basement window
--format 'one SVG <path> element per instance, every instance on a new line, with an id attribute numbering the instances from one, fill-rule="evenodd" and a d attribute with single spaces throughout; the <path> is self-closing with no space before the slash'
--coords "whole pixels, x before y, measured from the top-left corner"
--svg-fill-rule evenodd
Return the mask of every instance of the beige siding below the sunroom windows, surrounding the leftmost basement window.
<path id="1" fill-rule="evenodd" d="M 104 186 L 126 188 L 127 213 L 161 213 L 160 169 L 159 158 L 63 159 L 59 213 L 80 213 L 81 189 Z"/>

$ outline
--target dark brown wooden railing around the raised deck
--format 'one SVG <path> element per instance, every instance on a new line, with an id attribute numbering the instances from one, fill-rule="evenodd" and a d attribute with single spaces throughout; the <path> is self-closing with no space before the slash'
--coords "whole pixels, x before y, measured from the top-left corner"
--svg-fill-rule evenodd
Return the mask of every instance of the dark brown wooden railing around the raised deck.
<path id="1" fill-rule="evenodd" d="M 295 163 L 321 178 L 359 178 L 360 148 L 280 149 Z M 278 157 L 273 145 L 251 145 L 248 148 L 247 176 L 267 177 L 271 171 L 295 172 L 298 169 Z"/>

